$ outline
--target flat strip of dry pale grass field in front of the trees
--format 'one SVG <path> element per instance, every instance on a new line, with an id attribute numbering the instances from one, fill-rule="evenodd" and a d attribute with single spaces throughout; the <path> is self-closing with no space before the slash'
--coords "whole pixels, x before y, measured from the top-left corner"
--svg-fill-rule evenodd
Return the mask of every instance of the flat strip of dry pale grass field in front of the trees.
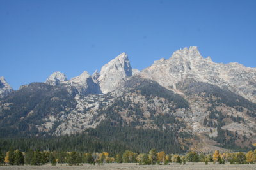
<path id="1" fill-rule="evenodd" d="M 0 169 L 6 169 L 6 170 L 30 170 L 30 169 L 40 169 L 40 170 L 57 170 L 57 169 L 67 169 L 67 170 L 80 170 L 80 169 L 93 169 L 93 170 L 102 170 L 102 169 L 256 169 L 256 164 L 246 164 L 246 165 L 230 165 L 230 164 L 225 164 L 225 165 L 214 165 L 212 163 L 209 163 L 208 165 L 205 165 L 204 163 L 187 163 L 185 165 L 182 164 L 170 164 L 170 165 L 154 165 L 154 166 L 141 166 L 141 165 L 136 165 L 136 164 L 105 164 L 105 166 L 100 166 L 100 165 L 90 165 L 90 164 L 83 164 L 81 166 L 68 166 L 68 164 L 58 164 L 57 166 L 51 166 L 51 164 L 47 164 L 44 166 L 0 166 Z"/>

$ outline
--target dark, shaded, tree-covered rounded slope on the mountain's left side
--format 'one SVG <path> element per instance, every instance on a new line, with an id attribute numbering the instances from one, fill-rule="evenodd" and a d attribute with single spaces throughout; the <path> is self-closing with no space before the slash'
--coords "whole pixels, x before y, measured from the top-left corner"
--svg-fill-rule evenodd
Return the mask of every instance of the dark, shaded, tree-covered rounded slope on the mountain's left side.
<path id="1" fill-rule="evenodd" d="M 44 122 L 46 115 L 54 115 L 76 104 L 75 89 L 31 83 L 1 101 L 0 136 L 26 136 L 38 133 L 35 125 Z"/>

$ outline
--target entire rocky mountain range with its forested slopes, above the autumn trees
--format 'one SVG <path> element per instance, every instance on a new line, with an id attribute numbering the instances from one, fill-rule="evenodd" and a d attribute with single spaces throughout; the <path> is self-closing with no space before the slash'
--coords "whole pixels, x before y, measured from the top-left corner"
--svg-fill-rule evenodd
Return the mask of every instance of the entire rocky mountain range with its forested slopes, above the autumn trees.
<path id="1" fill-rule="evenodd" d="M 247 150 L 256 143 L 255 121 L 256 69 L 214 63 L 196 47 L 142 71 L 122 53 L 92 76 L 54 72 L 16 91 L 0 79 L 0 147 Z"/>

